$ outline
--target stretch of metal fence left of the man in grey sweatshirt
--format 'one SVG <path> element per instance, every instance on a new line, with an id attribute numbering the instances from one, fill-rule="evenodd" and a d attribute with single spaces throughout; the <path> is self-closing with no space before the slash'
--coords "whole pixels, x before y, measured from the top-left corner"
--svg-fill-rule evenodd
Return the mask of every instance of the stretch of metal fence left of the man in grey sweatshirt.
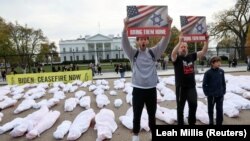
<path id="1" fill-rule="evenodd" d="M 21 54 L 0 56 L 1 71 L 17 73 L 34 73 L 54 71 L 55 67 L 87 69 L 90 63 L 115 64 L 129 62 L 122 50 L 62 52 L 46 54 Z M 41 70 L 42 69 L 42 70 Z M 68 70 L 68 69 L 67 69 Z M 74 70 L 74 69 L 73 69 Z"/>

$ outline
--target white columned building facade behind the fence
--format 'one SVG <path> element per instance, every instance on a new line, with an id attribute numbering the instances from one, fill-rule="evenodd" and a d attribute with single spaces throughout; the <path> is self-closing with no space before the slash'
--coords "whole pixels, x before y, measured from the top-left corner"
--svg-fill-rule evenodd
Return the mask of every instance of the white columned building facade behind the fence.
<path id="1" fill-rule="evenodd" d="M 135 40 L 129 38 L 131 46 L 135 46 Z M 61 62 L 127 58 L 119 36 L 96 34 L 76 40 L 60 40 L 59 48 Z"/>

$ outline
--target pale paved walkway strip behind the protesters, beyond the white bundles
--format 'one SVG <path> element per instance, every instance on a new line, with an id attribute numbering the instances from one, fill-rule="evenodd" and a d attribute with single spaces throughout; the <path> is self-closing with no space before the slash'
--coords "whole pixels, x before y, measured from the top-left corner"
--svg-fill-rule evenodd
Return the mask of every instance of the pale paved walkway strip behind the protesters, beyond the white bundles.
<path id="1" fill-rule="evenodd" d="M 226 73 L 230 72 L 246 72 L 247 67 L 246 66 L 237 66 L 236 68 L 229 68 L 229 67 L 221 67 Z M 201 71 L 201 68 L 198 68 L 198 73 L 202 74 L 204 73 L 207 69 L 209 68 L 204 68 L 203 71 Z M 250 72 L 249 72 L 250 74 Z M 126 78 L 131 78 L 132 72 L 131 71 L 126 71 L 125 72 L 125 77 Z M 168 70 L 158 70 L 158 75 L 159 76 L 168 76 L 168 75 L 174 75 L 174 69 L 170 68 Z M 120 73 L 116 72 L 104 72 L 102 75 L 95 75 L 94 80 L 96 79 L 116 79 L 120 77 Z M 6 82 L 3 82 L 0 78 L 0 85 L 7 85 Z"/>

